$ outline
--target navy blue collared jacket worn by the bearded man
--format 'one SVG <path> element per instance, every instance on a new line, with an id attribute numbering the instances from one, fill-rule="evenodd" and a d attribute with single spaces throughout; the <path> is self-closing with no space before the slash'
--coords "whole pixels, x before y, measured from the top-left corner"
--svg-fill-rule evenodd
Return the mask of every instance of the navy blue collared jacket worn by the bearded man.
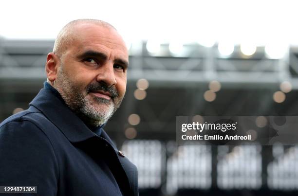
<path id="1" fill-rule="evenodd" d="M 0 124 L 0 185 L 37 186 L 38 196 L 138 195 L 136 167 L 105 131 L 97 136 L 44 88 Z"/>

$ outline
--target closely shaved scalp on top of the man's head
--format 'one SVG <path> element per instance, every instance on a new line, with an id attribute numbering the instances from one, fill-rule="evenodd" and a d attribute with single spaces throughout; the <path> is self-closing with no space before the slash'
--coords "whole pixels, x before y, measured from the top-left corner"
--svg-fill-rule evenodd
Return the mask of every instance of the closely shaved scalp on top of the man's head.
<path id="1" fill-rule="evenodd" d="M 105 22 L 103 20 L 97 20 L 97 19 L 78 19 L 73 20 L 69 23 L 67 23 L 61 31 L 58 33 L 53 53 L 57 54 L 58 56 L 62 56 L 64 52 L 68 49 L 68 47 L 71 45 L 72 41 L 75 39 L 75 26 L 79 24 L 95 24 L 102 27 L 106 27 L 109 29 L 116 30 L 110 23 Z"/>

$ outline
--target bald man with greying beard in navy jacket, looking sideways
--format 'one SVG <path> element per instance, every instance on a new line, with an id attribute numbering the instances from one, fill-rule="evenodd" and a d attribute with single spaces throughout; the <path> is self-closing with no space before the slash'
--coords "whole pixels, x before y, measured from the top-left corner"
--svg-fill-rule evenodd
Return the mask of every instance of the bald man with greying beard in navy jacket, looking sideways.
<path id="1" fill-rule="evenodd" d="M 40 196 L 138 195 L 136 167 L 102 130 L 124 97 L 127 69 L 127 48 L 111 24 L 63 27 L 44 88 L 0 124 L 0 185 L 37 186 Z"/>

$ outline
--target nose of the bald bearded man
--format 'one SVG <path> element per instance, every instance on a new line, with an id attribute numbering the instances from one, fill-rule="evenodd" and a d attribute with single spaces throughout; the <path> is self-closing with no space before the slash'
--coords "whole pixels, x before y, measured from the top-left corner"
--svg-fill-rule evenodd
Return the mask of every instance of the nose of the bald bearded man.
<path id="1" fill-rule="evenodd" d="M 105 63 L 104 65 L 102 65 L 96 76 L 96 80 L 99 83 L 106 84 L 108 87 L 116 85 L 117 81 L 115 78 L 113 63 Z"/>

